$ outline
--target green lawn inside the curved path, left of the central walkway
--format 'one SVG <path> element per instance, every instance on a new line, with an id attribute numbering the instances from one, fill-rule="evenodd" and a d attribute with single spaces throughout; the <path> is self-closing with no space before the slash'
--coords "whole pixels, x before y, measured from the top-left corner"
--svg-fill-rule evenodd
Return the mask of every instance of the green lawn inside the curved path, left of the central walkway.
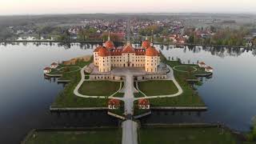
<path id="1" fill-rule="evenodd" d="M 80 94 L 91 96 L 110 96 L 119 90 L 120 82 L 85 81 L 78 90 Z"/>

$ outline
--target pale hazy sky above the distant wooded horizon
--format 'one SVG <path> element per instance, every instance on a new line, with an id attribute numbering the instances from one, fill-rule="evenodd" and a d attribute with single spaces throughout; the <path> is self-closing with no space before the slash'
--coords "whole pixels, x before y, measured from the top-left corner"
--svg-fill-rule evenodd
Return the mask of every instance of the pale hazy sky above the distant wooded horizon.
<path id="1" fill-rule="evenodd" d="M 250 13 L 256 0 L 0 0 L 0 14 Z"/>

